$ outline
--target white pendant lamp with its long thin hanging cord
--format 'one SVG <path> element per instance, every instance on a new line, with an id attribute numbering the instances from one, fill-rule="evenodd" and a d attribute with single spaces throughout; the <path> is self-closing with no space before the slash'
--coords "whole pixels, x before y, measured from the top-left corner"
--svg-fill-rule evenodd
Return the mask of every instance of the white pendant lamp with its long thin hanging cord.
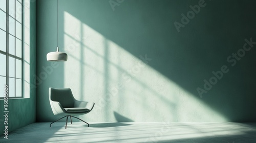
<path id="1" fill-rule="evenodd" d="M 68 60 L 68 55 L 63 52 L 59 52 L 59 47 L 58 47 L 58 42 L 59 42 L 59 1 L 57 0 L 57 51 L 56 52 L 50 52 L 46 55 L 47 61 L 67 61 Z"/>

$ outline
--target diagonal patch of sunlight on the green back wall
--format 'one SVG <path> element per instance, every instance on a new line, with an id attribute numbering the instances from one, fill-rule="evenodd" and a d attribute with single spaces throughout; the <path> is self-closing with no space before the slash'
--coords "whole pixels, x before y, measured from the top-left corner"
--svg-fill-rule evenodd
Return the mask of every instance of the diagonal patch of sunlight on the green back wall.
<path id="1" fill-rule="evenodd" d="M 93 122 L 224 122 L 220 113 L 152 68 L 151 55 L 132 55 L 64 12 L 64 86 L 77 100 L 95 102 Z M 124 37 L 125 38 L 125 37 Z"/>

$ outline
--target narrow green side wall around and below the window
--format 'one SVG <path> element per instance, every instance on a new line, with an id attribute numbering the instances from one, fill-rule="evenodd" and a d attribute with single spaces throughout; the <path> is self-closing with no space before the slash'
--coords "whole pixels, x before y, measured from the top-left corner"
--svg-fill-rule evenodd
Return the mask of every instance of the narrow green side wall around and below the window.
<path id="1" fill-rule="evenodd" d="M 25 97 L 29 97 L 29 98 L 24 98 L 24 99 L 9 99 L 8 100 L 8 133 L 15 130 L 15 129 L 18 129 L 20 127 L 24 127 L 26 125 L 29 125 L 31 123 L 34 123 L 36 121 L 36 113 L 35 113 L 35 93 L 36 93 L 36 88 L 35 86 L 33 85 L 34 83 L 34 76 L 36 74 L 36 70 L 35 70 L 35 60 L 36 60 L 36 57 L 35 57 L 35 35 L 36 35 L 36 32 L 35 32 L 35 1 L 32 0 L 30 1 L 30 7 L 29 7 L 29 10 L 30 10 L 30 18 L 28 18 L 28 21 L 26 22 L 29 22 L 29 25 L 30 25 L 30 31 L 28 35 L 24 35 L 24 37 L 26 36 L 29 36 L 28 39 L 26 39 L 25 41 L 29 41 L 29 47 L 28 46 L 25 46 L 25 53 L 24 55 L 27 57 L 29 57 L 29 59 L 26 59 L 25 58 L 25 61 L 27 62 L 26 64 L 28 65 L 29 63 L 29 68 L 25 69 L 25 79 L 29 79 L 29 83 L 30 84 L 30 90 L 28 90 L 29 92 L 26 92 L 25 93 Z M 28 7 L 27 7 L 28 8 Z M 29 20 L 30 19 L 30 20 Z M 29 48 L 29 50 L 27 49 Z M 27 52 L 27 53 L 26 53 Z M 29 54 L 29 55 L 27 55 Z M 28 62 L 29 61 L 29 62 Z M 26 65 L 26 67 L 28 67 Z M 29 77 L 26 77 L 27 73 L 30 73 Z M 26 86 L 26 85 L 25 85 Z M 27 87 L 26 87 L 27 88 Z M 29 88 L 27 88 L 29 89 Z M 4 113 L 4 100 L 0 100 L 0 112 L 1 114 Z M 1 128 L 0 128 L 0 132 L 1 134 L 4 133 L 4 122 L 2 122 L 3 120 L 5 120 L 5 118 L 3 118 L 4 116 L 1 115 Z M 9 134 L 10 135 L 10 134 Z M 8 137 L 9 137 L 8 135 Z"/>

